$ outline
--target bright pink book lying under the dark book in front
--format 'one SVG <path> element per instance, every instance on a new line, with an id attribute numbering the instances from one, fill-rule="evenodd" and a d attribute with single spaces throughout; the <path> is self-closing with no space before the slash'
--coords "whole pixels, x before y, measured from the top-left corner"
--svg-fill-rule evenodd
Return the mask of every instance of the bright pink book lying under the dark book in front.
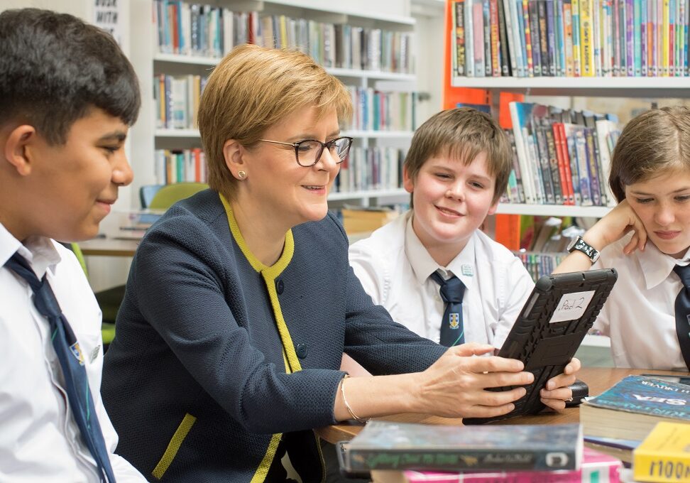
<path id="1" fill-rule="evenodd" d="M 552 472 L 403 472 L 405 483 L 618 483 L 620 460 L 584 448 L 579 470 Z"/>

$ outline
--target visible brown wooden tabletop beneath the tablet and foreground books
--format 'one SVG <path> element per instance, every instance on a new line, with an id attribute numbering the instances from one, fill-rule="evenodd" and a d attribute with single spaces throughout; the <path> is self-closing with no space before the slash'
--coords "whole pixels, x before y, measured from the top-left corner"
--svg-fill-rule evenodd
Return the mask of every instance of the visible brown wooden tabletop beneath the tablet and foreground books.
<path id="1" fill-rule="evenodd" d="M 669 374 L 669 371 L 655 371 L 651 369 L 613 369 L 608 367 L 583 367 L 578 373 L 578 379 L 586 382 L 589 386 L 589 395 L 596 396 L 601 394 L 613 384 L 630 374 Z M 675 374 L 675 373 L 674 373 Z M 685 373 L 678 372 L 679 376 Z M 568 408 L 559 413 L 543 413 L 536 416 L 520 416 L 508 420 L 498 421 L 495 424 L 566 424 L 579 423 L 579 408 Z M 397 414 L 377 418 L 382 420 L 394 420 L 401 423 L 425 423 L 425 424 L 446 424 L 460 425 L 462 418 L 442 418 L 440 416 L 428 416 L 423 414 Z M 351 440 L 364 427 L 361 423 L 344 422 L 325 428 L 319 428 L 317 434 L 330 443 Z"/>

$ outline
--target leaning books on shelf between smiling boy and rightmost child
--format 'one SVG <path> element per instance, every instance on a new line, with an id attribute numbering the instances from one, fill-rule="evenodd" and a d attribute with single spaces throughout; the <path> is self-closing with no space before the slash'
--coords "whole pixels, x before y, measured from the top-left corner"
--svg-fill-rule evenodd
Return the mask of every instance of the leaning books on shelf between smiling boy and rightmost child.
<path id="1" fill-rule="evenodd" d="M 615 116 L 510 102 L 513 171 L 504 201 L 537 205 L 612 206 L 610 157 Z"/>

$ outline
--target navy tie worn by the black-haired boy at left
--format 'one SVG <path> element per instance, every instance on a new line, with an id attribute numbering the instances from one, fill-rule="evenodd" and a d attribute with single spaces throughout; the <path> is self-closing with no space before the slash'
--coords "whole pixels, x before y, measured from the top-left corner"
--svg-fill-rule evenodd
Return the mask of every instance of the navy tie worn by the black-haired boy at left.
<path id="1" fill-rule="evenodd" d="M 65 390 L 72 415 L 75 417 L 84 442 L 96 460 L 101 482 L 114 483 L 115 477 L 96 416 L 94 398 L 89 389 L 89 380 L 84 369 L 84 358 L 79 342 L 65 315 L 62 315 L 50 283 L 45 275 L 43 280 L 38 280 L 26 259 L 18 253 L 13 254 L 11 259 L 6 261 L 5 266 L 27 281 L 33 290 L 33 304 L 38 312 L 48 319 L 53 347 L 60 361 L 62 374 L 65 376 Z"/>

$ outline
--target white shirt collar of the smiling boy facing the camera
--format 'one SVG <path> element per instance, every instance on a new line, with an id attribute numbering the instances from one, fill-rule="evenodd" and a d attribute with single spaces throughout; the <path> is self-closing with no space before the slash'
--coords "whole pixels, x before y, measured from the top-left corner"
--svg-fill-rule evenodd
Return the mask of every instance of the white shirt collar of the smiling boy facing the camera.
<path id="1" fill-rule="evenodd" d="M 412 266 L 412 271 L 415 273 L 415 278 L 420 285 L 426 283 L 429 275 L 437 271 L 439 268 L 442 272 L 451 271 L 456 277 L 460 278 L 465 287 L 470 286 L 471 276 L 463 274 L 463 266 L 469 265 L 474 268 L 474 246 L 475 246 L 475 235 L 473 234 L 462 251 L 457 254 L 457 256 L 448 264 L 448 266 L 440 266 L 432 259 L 429 252 L 422 245 L 419 237 L 412 228 L 412 217 L 413 212 L 410 211 L 407 214 L 407 222 L 405 223 L 405 253 L 407 254 L 407 259 L 410 261 Z"/>

